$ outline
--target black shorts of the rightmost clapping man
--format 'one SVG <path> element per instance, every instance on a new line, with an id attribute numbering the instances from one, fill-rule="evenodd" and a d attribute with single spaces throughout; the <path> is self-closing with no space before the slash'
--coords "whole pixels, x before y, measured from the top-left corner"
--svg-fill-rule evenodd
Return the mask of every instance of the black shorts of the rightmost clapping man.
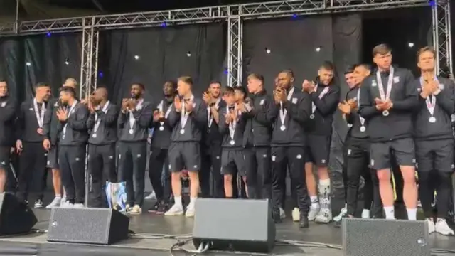
<path id="1" fill-rule="evenodd" d="M 416 140 L 415 156 L 419 172 L 451 172 L 454 164 L 454 140 Z"/>

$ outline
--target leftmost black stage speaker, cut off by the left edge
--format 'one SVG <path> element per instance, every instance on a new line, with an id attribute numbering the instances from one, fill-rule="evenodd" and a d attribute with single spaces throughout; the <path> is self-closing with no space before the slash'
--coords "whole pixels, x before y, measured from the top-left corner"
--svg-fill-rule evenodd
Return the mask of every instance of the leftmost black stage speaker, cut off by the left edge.
<path id="1" fill-rule="evenodd" d="M 31 231 L 38 222 L 25 202 L 10 193 L 0 193 L 0 234 L 18 235 Z"/>

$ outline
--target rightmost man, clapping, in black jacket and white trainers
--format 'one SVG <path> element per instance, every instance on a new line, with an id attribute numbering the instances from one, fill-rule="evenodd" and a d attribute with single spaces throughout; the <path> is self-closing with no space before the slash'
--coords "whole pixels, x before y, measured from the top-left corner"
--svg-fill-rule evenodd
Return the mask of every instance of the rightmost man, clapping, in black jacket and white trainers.
<path id="1" fill-rule="evenodd" d="M 454 169 L 454 136 L 451 114 L 455 111 L 455 85 L 449 79 L 436 77 L 436 54 L 430 47 L 417 53 L 422 75 L 415 80 L 420 89 L 419 110 L 414 116 L 414 138 L 419 171 L 419 196 L 429 233 L 454 235 L 446 223 L 451 197 L 451 174 Z M 437 190 L 437 218 L 434 219 L 432 201 L 434 184 L 432 171 L 439 176 Z"/>

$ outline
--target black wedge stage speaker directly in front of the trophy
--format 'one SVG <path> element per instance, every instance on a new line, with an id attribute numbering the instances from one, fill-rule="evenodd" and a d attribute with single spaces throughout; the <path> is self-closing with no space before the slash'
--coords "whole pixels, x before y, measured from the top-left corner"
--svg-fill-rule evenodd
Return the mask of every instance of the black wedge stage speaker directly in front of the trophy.
<path id="1" fill-rule="evenodd" d="M 110 245 L 128 238 L 129 218 L 105 208 L 54 208 L 48 241 Z"/>

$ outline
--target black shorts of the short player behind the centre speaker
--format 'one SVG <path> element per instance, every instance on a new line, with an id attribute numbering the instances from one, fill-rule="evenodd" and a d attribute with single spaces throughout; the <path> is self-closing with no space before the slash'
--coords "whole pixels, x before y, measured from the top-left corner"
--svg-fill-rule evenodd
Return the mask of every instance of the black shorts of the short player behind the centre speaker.
<path id="1" fill-rule="evenodd" d="M 247 176 L 243 150 L 223 149 L 221 151 L 221 174 L 235 175 L 237 172 L 240 176 Z"/>

